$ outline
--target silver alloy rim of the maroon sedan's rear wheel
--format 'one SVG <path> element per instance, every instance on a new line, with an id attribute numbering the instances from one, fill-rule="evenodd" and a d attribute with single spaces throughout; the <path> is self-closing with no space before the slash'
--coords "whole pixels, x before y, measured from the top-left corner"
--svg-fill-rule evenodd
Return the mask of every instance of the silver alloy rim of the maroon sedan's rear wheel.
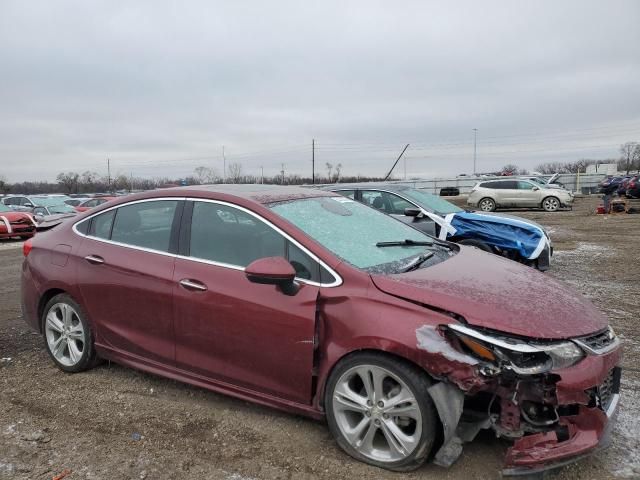
<path id="1" fill-rule="evenodd" d="M 78 312 L 67 303 L 56 303 L 45 320 L 47 346 L 53 357 L 66 367 L 73 367 L 82 359 L 86 339 Z"/>

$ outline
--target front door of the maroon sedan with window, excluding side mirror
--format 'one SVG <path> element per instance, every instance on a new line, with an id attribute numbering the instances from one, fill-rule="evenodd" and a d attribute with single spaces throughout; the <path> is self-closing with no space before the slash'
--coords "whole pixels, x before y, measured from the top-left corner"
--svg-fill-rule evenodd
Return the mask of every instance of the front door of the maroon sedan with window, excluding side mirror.
<path id="1" fill-rule="evenodd" d="M 320 274 L 306 275 L 306 253 L 296 256 L 299 247 L 248 210 L 188 205 L 173 276 L 177 366 L 309 403 Z M 249 263 L 274 256 L 299 260 L 290 260 L 300 278 L 295 295 L 246 278 Z"/>

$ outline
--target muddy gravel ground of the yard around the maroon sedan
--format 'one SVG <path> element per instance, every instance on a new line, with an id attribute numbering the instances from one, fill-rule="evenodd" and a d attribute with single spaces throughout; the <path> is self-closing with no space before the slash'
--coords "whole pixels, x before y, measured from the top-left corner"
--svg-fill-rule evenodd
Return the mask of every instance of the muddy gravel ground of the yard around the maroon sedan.
<path id="1" fill-rule="evenodd" d="M 613 445 L 548 477 L 557 480 L 640 478 L 640 215 L 596 216 L 597 202 L 517 213 L 549 228 L 556 255 L 548 275 L 589 297 L 624 337 Z M 20 318 L 20 247 L 0 242 L 0 478 L 500 478 L 506 444 L 488 433 L 449 470 L 400 475 L 343 454 L 321 422 L 113 364 L 64 374 Z"/>

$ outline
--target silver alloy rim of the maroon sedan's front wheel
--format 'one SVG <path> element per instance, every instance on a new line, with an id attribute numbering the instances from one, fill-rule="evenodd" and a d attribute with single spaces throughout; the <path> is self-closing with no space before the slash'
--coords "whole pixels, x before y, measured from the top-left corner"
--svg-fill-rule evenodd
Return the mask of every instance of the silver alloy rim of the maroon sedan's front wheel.
<path id="1" fill-rule="evenodd" d="M 420 443 L 422 413 L 416 397 L 385 368 L 360 365 L 347 370 L 336 383 L 332 402 L 340 432 L 367 458 L 397 462 Z"/>

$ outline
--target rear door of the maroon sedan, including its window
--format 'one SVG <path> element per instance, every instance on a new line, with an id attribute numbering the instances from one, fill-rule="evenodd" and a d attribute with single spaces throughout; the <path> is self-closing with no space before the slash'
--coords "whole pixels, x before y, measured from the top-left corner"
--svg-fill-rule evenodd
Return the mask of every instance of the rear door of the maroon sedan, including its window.
<path id="1" fill-rule="evenodd" d="M 138 359 L 174 364 L 173 269 L 182 201 L 137 201 L 76 226 L 82 304 L 96 343 Z"/>

